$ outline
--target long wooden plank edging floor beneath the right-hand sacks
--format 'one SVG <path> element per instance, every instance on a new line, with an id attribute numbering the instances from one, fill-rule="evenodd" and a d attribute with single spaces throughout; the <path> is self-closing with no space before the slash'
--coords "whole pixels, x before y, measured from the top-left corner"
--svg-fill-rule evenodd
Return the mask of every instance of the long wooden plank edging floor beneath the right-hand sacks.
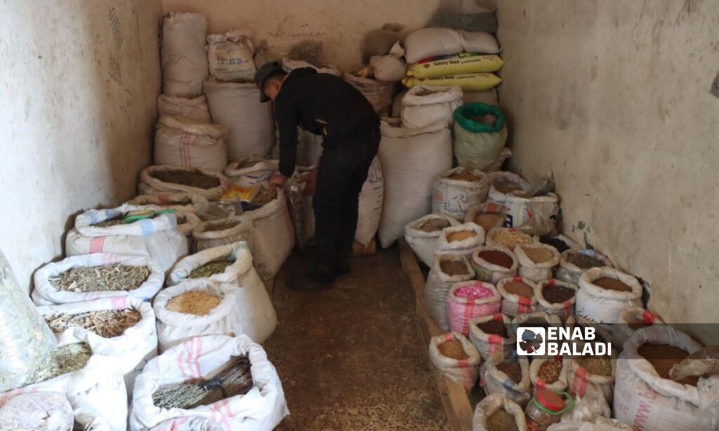
<path id="1" fill-rule="evenodd" d="M 430 338 L 443 334 L 444 330 L 439 328 L 427 311 L 424 300 L 424 276 L 421 269 L 419 269 L 419 264 L 417 263 L 414 252 L 404 238 L 400 238 L 398 242 L 400 245 L 402 269 L 412 286 L 416 313 L 421 320 L 425 346 L 429 346 Z M 429 355 L 427 357 L 429 358 Z M 467 391 L 464 391 L 464 386 L 456 381 L 446 379 L 446 377 L 436 369 L 434 364 L 431 364 L 431 366 L 432 369 L 434 369 L 437 389 L 439 390 L 449 427 L 451 427 L 452 430 L 471 431 L 474 412 L 472 412 L 472 404 L 470 404 L 470 398 L 467 397 Z"/>

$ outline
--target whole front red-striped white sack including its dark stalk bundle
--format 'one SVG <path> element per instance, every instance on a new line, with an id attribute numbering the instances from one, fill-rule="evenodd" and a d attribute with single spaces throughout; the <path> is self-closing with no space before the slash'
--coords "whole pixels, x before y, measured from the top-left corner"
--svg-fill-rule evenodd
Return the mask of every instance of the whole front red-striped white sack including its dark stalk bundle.
<path id="1" fill-rule="evenodd" d="M 246 378 L 242 387 L 226 379 L 229 366 L 243 356 L 252 377 L 249 391 Z M 186 405 L 196 407 L 182 408 Z M 280 378 L 262 347 L 247 335 L 209 335 L 187 340 L 147 363 L 135 381 L 129 425 L 144 431 L 165 421 L 202 417 L 221 423 L 225 431 L 272 430 L 288 414 Z"/>

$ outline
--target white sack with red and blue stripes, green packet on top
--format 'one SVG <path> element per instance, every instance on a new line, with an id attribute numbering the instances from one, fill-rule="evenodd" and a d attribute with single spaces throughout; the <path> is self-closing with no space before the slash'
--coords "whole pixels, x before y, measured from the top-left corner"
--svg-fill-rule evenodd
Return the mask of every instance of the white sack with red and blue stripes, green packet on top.
<path id="1" fill-rule="evenodd" d="M 101 221 L 122 218 L 134 210 L 142 210 L 142 207 L 120 205 L 78 215 L 75 227 L 65 238 L 65 253 L 68 256 L 93 253 L 147 256 L 160 265 L 162 272 L 167 272 L 176 261 L 187 256 L 187 238 L 178 232 L 175 214 L 160 214 L 106 228 L 95 226 Z"/>

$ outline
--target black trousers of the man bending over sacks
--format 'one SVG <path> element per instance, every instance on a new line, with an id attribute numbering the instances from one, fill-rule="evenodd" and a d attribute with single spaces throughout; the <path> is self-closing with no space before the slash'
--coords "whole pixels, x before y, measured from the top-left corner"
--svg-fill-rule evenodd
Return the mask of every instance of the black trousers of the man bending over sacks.
<path id="1" fill-rule="evenodd" d="M 336 142 L 325 138 L 312 205 L 317 242 L 315 271 L 323 281 L 333 281 L 338 268 L 349 266 L 359 192 L 379 146 L 379 128 Z"/>

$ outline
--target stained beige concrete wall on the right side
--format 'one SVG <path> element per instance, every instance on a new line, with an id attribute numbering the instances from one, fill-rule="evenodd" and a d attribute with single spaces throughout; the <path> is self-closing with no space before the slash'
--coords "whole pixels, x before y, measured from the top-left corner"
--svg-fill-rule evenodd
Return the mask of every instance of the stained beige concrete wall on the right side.
<path id="1" fill-rule="evenodd" d="M 718 322 L 718 0 L 500 2 L 511 165 L 554 171 L 564 230 Z"/>

